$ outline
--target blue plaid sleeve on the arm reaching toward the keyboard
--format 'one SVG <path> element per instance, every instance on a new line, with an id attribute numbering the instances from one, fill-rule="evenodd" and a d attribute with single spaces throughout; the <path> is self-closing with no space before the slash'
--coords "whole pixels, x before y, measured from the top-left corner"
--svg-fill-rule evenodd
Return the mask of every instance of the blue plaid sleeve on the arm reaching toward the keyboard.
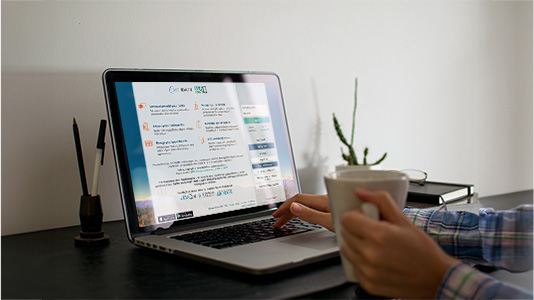
<path id="1" fill-rule="evenodd" d="M 532 269 L 532 205 L 509 211 L 481 208 L 478 215 L 412 208 L 403 213 L 446 253 L 464 262 L 511 272 Z"/>

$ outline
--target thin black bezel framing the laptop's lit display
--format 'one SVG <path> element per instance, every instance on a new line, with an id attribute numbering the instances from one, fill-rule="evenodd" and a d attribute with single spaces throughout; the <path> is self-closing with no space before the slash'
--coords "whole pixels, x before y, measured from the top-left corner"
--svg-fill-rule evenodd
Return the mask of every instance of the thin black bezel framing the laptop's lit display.
<path id="1" fill-rule="evenodd" d="M 102 74 L 104 85 L 104 94 L 106 99 L 106 107 L 108 113 L 108 120 L 111 132 L 111 140 L 113 143 L 113 154 L 115 158 L 115 166 L 118 175 L 121 200 L 123 205 L 124 217 L 128 228 L 129 238 L 133 240 L 137 236 L 149 234 L 161 228 L 176 228 L 186 224 L 193 224 L 198 222 L 206 222 L 217 220 L 221 218 L 234 217 L 265 211 L 279 206 L 281 202 L 270 205 L 256 206 L 252 208 L 245 208 L 234 210 L 230 212 L 217 213 L 208 216 L 196 217 L 192 219 L 184 219 L 175 221 L 172 225 L 166 224 L 139 226 L 137 218 L 135 197 L 133 193 L 132 180 L 130 175 L 130 168 L 128 158 L 126 155 L 126 146 L 124 141 L 124 132 L 119 111 L 118 97 L 115 89 L 116 82 L 246 82 L 246 83 L 274 83 L 278 89 L 278 105 L 281 108 L 281 119 L 283 120 L 283 128 L 285 129 L 286 141 L 288 145 L 289 160 L 293 176 L 296 181 L 297 192 L 300 193 L 300 184 L 297 176 L 297 168 L 295 166 L 293 147 L 289 134 L 289 127 L 287 124 L 287 117 L 285 112 L 284 101 L 282 97 L 282 89 L 278 75 L 272 72 L 239 72 L 239 71 L 192 71 L 192 70 L 171 70 L 171 69 L 107 69 Z M 271 99 L 269 100 L 271 101 Z"/>

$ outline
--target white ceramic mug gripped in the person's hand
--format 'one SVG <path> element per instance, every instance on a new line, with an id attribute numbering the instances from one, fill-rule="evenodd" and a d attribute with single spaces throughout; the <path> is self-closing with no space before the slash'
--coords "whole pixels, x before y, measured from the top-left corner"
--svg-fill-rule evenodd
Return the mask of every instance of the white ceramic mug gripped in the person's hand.
<path id="1" fill-rule="evenodd" d="M 339 248 L 344 244 L 341 236 L 341 217 L 350 210 L 361 209 L 370 218 L 379 219 L 378 207 L 371 203 L 363 203 L 355 194 L 357 188 L 371 191 L 387 191 L 395 200 L 399 209 L 404 208 L 408 194 L 408 176 L 399 171 L 387 170 L 342 170 L 324 177 L 328 191 L 330 211 L 336 230 Z M 358 282 L 352 264 L 341 254 L 341 262 L 345 277 L 349 282 Z"/>

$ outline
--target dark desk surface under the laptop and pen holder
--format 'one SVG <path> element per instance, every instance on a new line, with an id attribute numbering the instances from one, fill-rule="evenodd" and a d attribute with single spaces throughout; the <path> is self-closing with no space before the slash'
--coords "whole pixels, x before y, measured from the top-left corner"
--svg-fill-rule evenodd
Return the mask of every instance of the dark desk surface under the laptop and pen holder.
<path id="1" fill-rule="evenodd" d="M 532 191 L 491 200 L 510 198 L 531 203 Z M 136 247 L 127 240 L 122 221 L 104 223 L 111 237 L 104 247 L 76 247 L 79 230 L 76 226 L 2 237 L 2 298 L 369 297 L 345 282 L 339 258 L 258 277 Z"/>

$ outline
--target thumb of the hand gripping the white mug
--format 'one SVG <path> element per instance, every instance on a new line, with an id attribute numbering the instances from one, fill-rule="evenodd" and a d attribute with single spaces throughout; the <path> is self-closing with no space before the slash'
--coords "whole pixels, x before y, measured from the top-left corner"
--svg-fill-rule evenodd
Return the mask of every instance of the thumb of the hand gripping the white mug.
<path id="1" fill-rule="evenodd" d="M 356 196 L 363 202 L 373 203 L 378 206 L 382 219 L 394 224 L 404 224 L 406 219 L 399 210 L 399 207 L 386 191 L 369 191 L 366 189 L 356 189 Z"/>

